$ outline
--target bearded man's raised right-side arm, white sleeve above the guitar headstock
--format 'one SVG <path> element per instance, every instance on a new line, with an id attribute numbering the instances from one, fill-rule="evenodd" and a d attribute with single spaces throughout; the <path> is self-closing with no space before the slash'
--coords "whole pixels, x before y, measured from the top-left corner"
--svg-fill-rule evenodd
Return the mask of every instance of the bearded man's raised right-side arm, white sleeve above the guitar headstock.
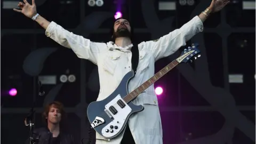
<path id="1" fill-rule="evenodd" d="M 155 61 L 168 57 L 181 46 L 185 46 L 194 35 L 203 31 L 203 22 L 211 15 L 223 9 L 229 0 L 212 0 L 212 3 L 201 14 L 197 15 L 179 29 L 162 36 L 155 41 L 145 42 L 145 48 L 153 52 Z"/>

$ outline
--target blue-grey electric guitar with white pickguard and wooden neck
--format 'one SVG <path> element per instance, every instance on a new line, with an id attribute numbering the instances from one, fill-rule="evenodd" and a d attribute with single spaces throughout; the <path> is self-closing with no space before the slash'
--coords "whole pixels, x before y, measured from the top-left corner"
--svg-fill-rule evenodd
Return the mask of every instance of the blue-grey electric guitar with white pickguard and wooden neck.
<path id="1" fill-rule="evenodd" d="M 198 44 L 187 47 L 178 59 L 173 60 L 131 93 L 128 92 L 128 84 L 130 79 L 134 77 L 134 71 L 129 71 L 109 97 L 101 101 L 91 102 L 87 107 L 87 117 L 92 128 L 108 140 L 117 137 L 124 130 L 131 114 L 144 109 L 141 105 L 134 105 L 132 100 L 179 63 L 192 62 L 192 58 L 200 57 L 200 51 L 197 47 Z"/>

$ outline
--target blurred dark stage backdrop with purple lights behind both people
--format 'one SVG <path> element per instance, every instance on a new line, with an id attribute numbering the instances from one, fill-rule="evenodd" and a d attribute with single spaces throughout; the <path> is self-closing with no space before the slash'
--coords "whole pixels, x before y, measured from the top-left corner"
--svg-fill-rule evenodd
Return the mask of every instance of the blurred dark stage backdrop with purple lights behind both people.
<path id="1" fill-rule="evenodd" d="M 164 144 L 255 143 L 255 1 L 234 1 L 204 23 L 201 58 L 177 66 L 155 83 Z M 31 0 L 28 1 L 31 3 Z M 114 15 L 129 16 L 137 41 L 157 39 L 180 28 L 210 0 L 35 0 L 49 21 L 94 42 L 108 42 Z M 58 100 L 68 113 L 70 132 L 80 143 L 92 137 L 87 105 L 99 93 L 98 68 L 45 36 L 21 13 L 19 1 L 1 0 L 1 143 L 23 143 L 23 121 L 36 102 L 35 127 L 43 126 L 43 106 Z M 116 13 L 121 12 L 121 13 Z M 155 71 L 185 47 L 158 60 Z M 38 79 L 45 95 L 38 96 Z M 158 87 L 158 88 L 157 88 Z"/>

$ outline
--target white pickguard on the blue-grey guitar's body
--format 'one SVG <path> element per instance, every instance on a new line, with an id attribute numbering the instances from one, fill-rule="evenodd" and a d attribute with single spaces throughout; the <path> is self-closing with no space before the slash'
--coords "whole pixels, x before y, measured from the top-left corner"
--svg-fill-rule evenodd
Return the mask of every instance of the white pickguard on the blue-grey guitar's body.
<path id="1" fill-rule="evenodd" d="M 118 100 L 122 100 L 125 103 L 125 107 L 121 108 L 117 105 L 117 101 Z M 109 110 L 110 106 L 114 106 L 116 108 L 116 110 L 118 111 L 115 115 L 112 114 Z M 127 116 L 131 113 L 132 109 L 129 107 L 129 105 L 127 105 L 127 103 L 121 98 L 121 95 L 118 94 L 116 96 L 115 99 L 111 100 L 106 106 L 105 108 L 109 111 L 109 113 L 111 114 L 111 116 L 114 117 L 113 121 L 110 122 L 108 125 L 106 125 L 105 127 L 103 127 L 103 129 L 101 130 L 101 133 L 104 137 L 106 138 L 110 138 L 113 137 L 115 134 L 117 134 L 121 128 L 123 127 L 123 125 L 125 124 L 125 119 L 127 118 Z M 110 125 L 113 125 L 113 129 L 110 129 Z M 118 128 L 115 129 L 115 126 L 117 126 Z M 108 130 L 108 132 L 106 132 L 106 130 Z M 111 133 L 110 130 L 113 130 L 113 132 Z"/>

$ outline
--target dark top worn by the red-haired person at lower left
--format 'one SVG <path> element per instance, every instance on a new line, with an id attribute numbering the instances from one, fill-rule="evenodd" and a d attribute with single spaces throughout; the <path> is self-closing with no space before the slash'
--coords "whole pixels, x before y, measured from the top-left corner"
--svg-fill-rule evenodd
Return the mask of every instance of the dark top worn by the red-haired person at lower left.
<path id="1" fill-rule="evenodd" d="M 61 131 L 58 137 L 53 138 L 52 133 L 46 127 L 34 130 L 32 137 L 36 140 L 36 144 L 75 144 L 71 134 Z M 29 138 L 26 144 L 29 144 Z"/>

